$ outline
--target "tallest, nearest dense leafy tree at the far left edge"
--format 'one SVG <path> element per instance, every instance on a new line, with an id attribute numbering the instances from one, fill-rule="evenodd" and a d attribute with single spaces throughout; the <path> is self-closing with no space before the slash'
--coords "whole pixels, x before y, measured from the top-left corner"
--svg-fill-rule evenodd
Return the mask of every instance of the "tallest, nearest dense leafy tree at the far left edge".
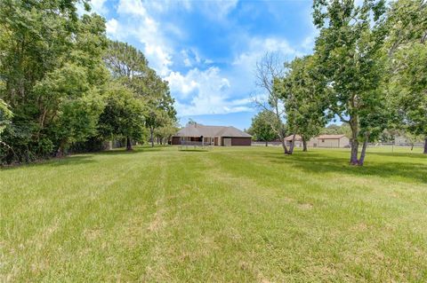
<path id="1" fill-rule="evenodd" d="M 64 140 L 85 136 L 77 134 L 82 133 L 80 115 L 67 124 L 77 128 L 64 130 L 61 125 L 65 115 L 75 112 L 73 106 L 81 113 L 108 77 L 101 61 L 105 21 L 94 14 L 79 18 L 76 4 L 0 2 L 0 98 L 14 113 L 4 139 L 16 153 L 7 161 L 49 156 Z M 96 120 L 96 114 L 89 116 Z"/>

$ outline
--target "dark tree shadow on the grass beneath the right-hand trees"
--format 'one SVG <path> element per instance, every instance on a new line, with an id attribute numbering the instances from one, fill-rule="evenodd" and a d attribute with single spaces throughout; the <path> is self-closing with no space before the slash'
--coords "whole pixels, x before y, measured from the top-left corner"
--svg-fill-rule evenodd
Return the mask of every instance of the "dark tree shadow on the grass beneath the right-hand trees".
<path id="1" fill-rule="evenodd" d="M 291 167 L 302 169 L 306 172 L 322 173 L 343 173 L 354 176 L 376 176 L 376 177 L 403 177 L 415 182 L 427 183 L 427 161 L 423 154 L 411 153 L 368 153 L 369 155 L 387 156 L 386 161 L 373 160 L 367 161 L 363 167 L 350 166 L 347 156 L 331 157 L 320 153 L 294 153 L 291 156 L 285 156 L 283 153 L 264 153 L 271 162 L 278 164 L 287 164 Z M 414 157 L 414 161 L 393 161 L 389 157 Z"/>

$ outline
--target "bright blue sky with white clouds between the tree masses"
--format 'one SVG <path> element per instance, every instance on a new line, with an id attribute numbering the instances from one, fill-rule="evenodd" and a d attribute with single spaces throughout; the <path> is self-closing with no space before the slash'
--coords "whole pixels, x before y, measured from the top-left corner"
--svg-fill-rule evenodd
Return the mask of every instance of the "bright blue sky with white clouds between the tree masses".
<path id="1" fill-rule="evenodd" d="M 107 34 L 144 52 L 169 82 L 181 124 L 250 126 L 254 66 L 266 51 L 310 53 L 311 1 L 92 0 Z"/>

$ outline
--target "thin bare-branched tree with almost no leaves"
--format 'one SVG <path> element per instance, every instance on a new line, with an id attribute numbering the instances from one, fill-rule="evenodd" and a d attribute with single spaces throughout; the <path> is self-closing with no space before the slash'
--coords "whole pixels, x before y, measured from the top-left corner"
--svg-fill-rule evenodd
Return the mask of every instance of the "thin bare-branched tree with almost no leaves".
<path id="1" fill-rule="evenodd" d="M 282 142 L 285 154 L 289 154 L 286 147 L 286 127 L 283 122 L 286 109 L 283 101 L 279 97 L 278 91 L 274 88 L 274 81 L 284 75 L 284 67 L 280 62 L 277 53 L 267 52 L 260 61 L 256 63 L 255 84 L 262 90 L 262 96 L 254 97 L 254 103 L 260 109 L 269 111 L 276 118 L 270 123 L 271 129 L 276 132 Z"/>

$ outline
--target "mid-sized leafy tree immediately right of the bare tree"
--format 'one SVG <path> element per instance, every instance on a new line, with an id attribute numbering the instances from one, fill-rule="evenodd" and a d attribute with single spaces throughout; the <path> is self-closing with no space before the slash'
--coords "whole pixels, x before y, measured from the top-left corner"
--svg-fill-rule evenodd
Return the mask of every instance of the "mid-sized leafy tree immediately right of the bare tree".
<path id="1" fill-rule="evenodd" d="M 286 67 L 285 77 L 277 80 L 275 87 L 284 101 L 288 130 L 294 137 L 301 135 L 306 152 L 307 141 L 317 136 L 326 124 L 326 86 L 313 56 L 296 58 Z M 293 151 L 294 141 L 289 152 Z"/>

